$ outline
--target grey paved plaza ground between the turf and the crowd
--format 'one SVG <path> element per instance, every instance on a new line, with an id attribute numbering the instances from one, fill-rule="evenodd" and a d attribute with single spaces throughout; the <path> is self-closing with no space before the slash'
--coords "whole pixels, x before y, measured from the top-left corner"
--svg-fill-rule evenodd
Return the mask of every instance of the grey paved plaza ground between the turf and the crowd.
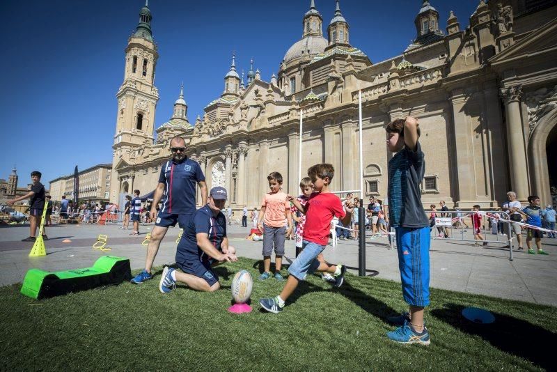
<path id="1" fill-rule="evenodd" d="M 118 226 L 55 225 L 47 230 L 50 238 L 45 242 L 47 256 L 36 258 L 28 256 L 33 243 L 20 241 L 29 235 L 29 226 L 1 227 L 0 286 L 21 282 L 31 268 L 47 271 L 86 268 L 105 254 L 130 258 L 132 270 L 143 268 L 146 247 L 141 242 L 152 225 L 141 226 L 139 236 L 130 236 L 131 230 L 120 230 Z M 230 245 L 237 248 L 239 256 L 261 258 L 262 242 L 245 239 L 249 227 L 229 227 Z M 169 229 L 155 265 L 174 262 L 178 233 L 178 227 Z M 111 251 L 92 248 L 99 234 L 108 235 L 107 247 Z M 461 235 L 458 236 L 460 238 Z M 464 235 L 466 237 L 471 238 L 471 235 Z M 63 242 L 66 239 L 71 242 Z M 557 306 L 557 239 L 543 240 L 543 247 L 549 256 L 515 251 L 513 261 L 509 260 L 508 249 L 503 249 L 503 244 L 499 242 L 490 243 L 487 247 L 474 247 L 472 244 L 457 240 L 432 240 L 432 287 Z M 285 263 L 295 257 L 292 240 L 286 241 L 285 256 Z M 356 241 L 340 240 L 336 247 L 327 247 L 324 256 L 330 262 L 345 263 L 352 274 L 358 273 Z M 366 270 L 370 274 L 378 272 L 377 277 L 380 278 L 400 281 L 396 249 L 389 249 L 386 238 L 367 240 Z"/>

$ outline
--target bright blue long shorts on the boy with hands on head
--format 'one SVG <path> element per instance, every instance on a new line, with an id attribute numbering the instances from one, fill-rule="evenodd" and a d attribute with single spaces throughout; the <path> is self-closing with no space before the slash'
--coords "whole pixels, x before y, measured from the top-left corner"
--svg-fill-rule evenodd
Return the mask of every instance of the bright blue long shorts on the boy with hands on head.
<path id="1" fill-rule="evenodd" d="M 402 297 L 407 304 L 425 307 L 430 304 L 430 228 L 395 231 Z"/>

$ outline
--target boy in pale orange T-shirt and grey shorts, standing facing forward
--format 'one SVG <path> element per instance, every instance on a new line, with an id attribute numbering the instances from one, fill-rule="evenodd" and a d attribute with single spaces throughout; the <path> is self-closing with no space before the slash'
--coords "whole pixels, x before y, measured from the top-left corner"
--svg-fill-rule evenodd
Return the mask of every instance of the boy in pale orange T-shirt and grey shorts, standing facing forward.
<path id="1" fill-rule="evenodd" d="M 259 276 L 260 280 L 271 277 L 271 253 L 275 254 L 275 273 L 276 280 L 283 280 L 281 268 L 284 255 L 285 235 L 292 232 L 292 214 L 290 212 L 290 202 L 286 200 L 286 194 L 281 191 L 283 176 L 278 172 L 271 172 L 267 176 L 270 192 L 263 196 L 261 202 L 261 212 L 258 216 L 257 228 L 263 233 L 263 268 L 264 271 Z M 288 222 L 288 230 L 285 222 Z M 263 224 L 262 224 L 263 223 Z"/>

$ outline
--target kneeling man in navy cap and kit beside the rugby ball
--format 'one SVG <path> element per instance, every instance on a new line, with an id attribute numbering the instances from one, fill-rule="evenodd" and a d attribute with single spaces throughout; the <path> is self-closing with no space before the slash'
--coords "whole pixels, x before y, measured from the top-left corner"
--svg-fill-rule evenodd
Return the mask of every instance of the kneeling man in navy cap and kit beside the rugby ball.
<path id="1" fill-rule="evenodd" d="M 182 272 L 165 267 L 159 282 L 161 293 L 173 290 L 176 281 L 203 292 L 221 288 L 212 268 L 237 261 L 236 250 L 228 246 L 226 238 L 226 218 L 221 212 L 225 203 L 226 189 L 213 187 L 207 204 L 196 210 L 178 243 L 176 265 Z"/>

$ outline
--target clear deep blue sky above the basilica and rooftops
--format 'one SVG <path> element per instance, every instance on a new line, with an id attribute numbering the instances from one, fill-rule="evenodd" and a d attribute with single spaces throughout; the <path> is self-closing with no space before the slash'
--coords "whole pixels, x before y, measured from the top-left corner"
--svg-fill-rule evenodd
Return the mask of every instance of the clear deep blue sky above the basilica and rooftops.
<path id="1" fill-rule="evenodd" d="M 188 118 L 223 91 L 231 54 L 237 69 L 249 70 L 253 56 L 262 79 L 278 71 L 290 45 L 301 38 L 310 0 L 150 0 L 152 31 L 159 46 L 155 86 L 160 99 L 156 127 L 170 118 L 184 82 Z M 352 46 L 372 62 L 402 54 L 416 38 L 414 18 L 421 0 L 341 0 Z M 19 186 L 29 173 L 42 183 L 111 162 L 116 91 L 123 81 L 124 49 L 139 20 L 142 0 L 17 1 L 2 3 L 0 23 L 0 178 L 17 164 Z M 469 24 L 476 0 L 432 0 L 439 23 L 449 10 L 461 28 Z M 323 31 L 334 0 L 315 0 Z"/>

